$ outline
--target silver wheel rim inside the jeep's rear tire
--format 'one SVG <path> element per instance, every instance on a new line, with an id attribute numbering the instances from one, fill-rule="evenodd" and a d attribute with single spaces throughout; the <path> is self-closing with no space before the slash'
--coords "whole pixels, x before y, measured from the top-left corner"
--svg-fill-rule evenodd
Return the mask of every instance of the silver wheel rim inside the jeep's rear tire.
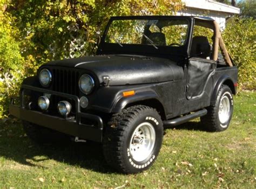
<path id="1" fill-rule="evenodd" d="M 219 121 L 224 124 L 230 118 L 230 100 L 227 96 L 221 97 L 219 105 Z"/>

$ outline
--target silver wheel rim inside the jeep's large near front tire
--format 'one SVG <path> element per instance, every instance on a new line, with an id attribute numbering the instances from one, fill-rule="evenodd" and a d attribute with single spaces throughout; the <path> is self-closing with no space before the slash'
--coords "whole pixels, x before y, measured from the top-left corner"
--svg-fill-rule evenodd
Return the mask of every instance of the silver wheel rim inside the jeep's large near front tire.
<path id="1" fill-rule="evenodd" d="M 156 142 L 156 132 L 148 122 L 139 124 L 134 130 L 130 141 L 130 154 L 137 162 L 142 162 L 150 156 Z"/>

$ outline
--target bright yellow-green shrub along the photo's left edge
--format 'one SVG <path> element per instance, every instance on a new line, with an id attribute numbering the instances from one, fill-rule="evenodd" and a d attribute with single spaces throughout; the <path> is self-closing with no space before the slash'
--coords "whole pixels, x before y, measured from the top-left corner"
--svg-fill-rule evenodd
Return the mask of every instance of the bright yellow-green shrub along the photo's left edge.
<path id="1" fill-rule="evenodd" d="M 0 118 L 6 115 L 9 97 L 17 93 L 24 77 L 24 58 L 13 37 L 17 30 L 10 25 L 13 21 L 8 13 L 0 10 Z"/>

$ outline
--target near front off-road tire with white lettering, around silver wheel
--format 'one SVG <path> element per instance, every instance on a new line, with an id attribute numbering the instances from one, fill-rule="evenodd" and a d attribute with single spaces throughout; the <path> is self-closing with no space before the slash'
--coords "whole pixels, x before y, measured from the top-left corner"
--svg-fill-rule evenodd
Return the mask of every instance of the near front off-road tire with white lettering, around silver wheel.
<path id="1" fill-rule="evenodd" d="M 155 142 L 149 156 L 142 161 L 134 160 L 130 152 L 134 132 L 138 125 L 149 124 L 155 131 Z M 152 128 L 152 127 L 151 127 Z M 156 160 L 163 141 L 163 122 L 157 111 L 147 106 L 133 106 L 114 114 L 107 123 L 103 140 L 106 162 L 122 173 L 142 172 Z M 134 153 L 134 151 L 133 151 Z"/>

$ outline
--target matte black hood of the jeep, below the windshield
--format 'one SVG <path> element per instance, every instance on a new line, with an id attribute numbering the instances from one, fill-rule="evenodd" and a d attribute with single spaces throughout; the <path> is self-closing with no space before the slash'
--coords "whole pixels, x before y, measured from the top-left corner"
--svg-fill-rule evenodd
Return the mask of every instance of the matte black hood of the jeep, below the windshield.
<path id="1" fill-rule="evenodd" d="M 138 55 L 97 55 L 52 61 L 45 66 L 84 69 L 98 77 L 109 76 L 110 86 L 156 83 L 183 79 L 183 68 L 168 59 Z"/>

